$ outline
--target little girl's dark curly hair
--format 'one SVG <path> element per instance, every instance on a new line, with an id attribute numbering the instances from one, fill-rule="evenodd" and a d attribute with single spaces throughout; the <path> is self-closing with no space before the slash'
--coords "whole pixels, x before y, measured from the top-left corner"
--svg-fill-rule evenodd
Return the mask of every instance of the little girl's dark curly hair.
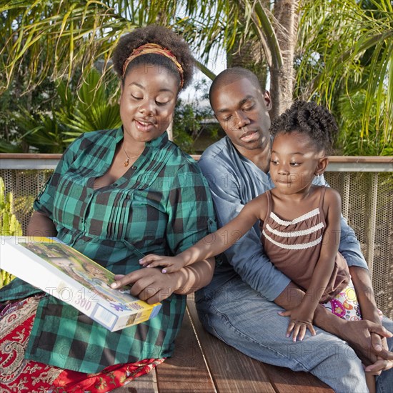
<path id="1" fill-rule="evenodd" d="M 297 131 L 307 134 L 318 151 L 332 154 L 338 134 L 334 116 L 315 102 L 295 101 L 282 115 L 272 121 L 272 136 Z"/>

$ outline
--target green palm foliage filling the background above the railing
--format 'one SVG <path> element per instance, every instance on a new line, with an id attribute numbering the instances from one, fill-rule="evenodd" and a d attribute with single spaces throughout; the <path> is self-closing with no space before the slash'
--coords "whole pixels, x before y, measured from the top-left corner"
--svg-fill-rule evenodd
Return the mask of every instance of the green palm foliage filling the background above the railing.
<path id="1" fill-rule="evenodd" d="M 342 132 L 347 133 L 349 129 L 352 132 L 347 137 L 350 136 L 353 143 L 345 146 L 361 149 L 351 150 L 353 154 L 365 151 L 389 154 L 393 134 L 391 0 L 6 1 L 0 6 L 0 68 L 3 71 L 0 106 L 7 109 L 3 111 L 5 116 L 0 115 L 0 136 L 4 136 L 0 138 L 0 151 L 27 151 L 35 140 L 38 141 L 34 142 L 36 149 L 62 151 L 76 134 L 106 128 L 86 119 L 83 106 L 73 110 L 69 116 L 71 121 L 64 123 L 59 108 L 65 105 L 57 94 L 57 82 L 68 81 L 67 89 L 71 87 L 73 94 L 67 97 L 70 101 L 75 99 L 75 81 L 86 79 L 97 59 L 101 61 L 103 74 L 109 74 L 109 59 L 117 40 L 138 26 L 156 23 L 179 31 L 194 53 L 200 54 L 204 64 L 200 62 L 199 68 L 211 78 L 214 64 L 209 63 L 209 56 L 214 50 L 221 47 L 231 54 L 240 53 L 238 49 L 249 43 L 263 48 L 261 66 L 267 65 L 271 71 L 273 66 L 277 71 L 283 60 L 282 41 L 278 39 L 282 26 L 277 22 L 282 19 L 275 15 L 279 4 L 301 6 L 294 96 L 327 104 L 342 123 Z M 288 12 L 293 15 L 294 11 Z M 254 63 L 259 64 L 259 61 Z M 99 83 L 102 81 L 101 77 Z M 345 117 L 349 112 L 342 104 L 343 96 L 354 106 L 354 101 L 359 99 L 355 95 L 361 90 L 364 99 L 360 100 L 362 104 L 356 104 L 361 121 L 355 130 L 349 127 L 352 120 Z M 16 125 L 16 119 L 9 116 L 19 111 L 16 105 L 24 107 L 35 121 L 29 127 L 22 127 L 23 131 L 19 129 L 20 122 Z M 181 110 L 188 111 L 188 117 L 199 111 L 186 107 Z M 114 111 L 113 108 L 108 115 L 101 110 L 100 113 L 111 117 Z M 26 119 L 26 113 L 22 112 L 21 116 L 24 119 L 19 120 L 26 124 L 32 120 L 29 116 Z M 66 127 L 63 129 L 61 124 Z M 184 127 L 193 129 L 192 125 Z M 43 134 L 49 132 L 48 139 Z M 187 141 L 190 132 L 193 134 L 193 131 L 183 133 L 179 128 L 177 140 L 181 142 L 183 138 L 186 146 L 190 143 Z M 29 143 L 21 139 L 24 134 L 26 140 L 30 138 Z M 359 140 L 355 143 L 356 135 Z M 15 140 L 19 144 L 12 144 Z M 372 149 L 369 144 L 373 145 Z"/>

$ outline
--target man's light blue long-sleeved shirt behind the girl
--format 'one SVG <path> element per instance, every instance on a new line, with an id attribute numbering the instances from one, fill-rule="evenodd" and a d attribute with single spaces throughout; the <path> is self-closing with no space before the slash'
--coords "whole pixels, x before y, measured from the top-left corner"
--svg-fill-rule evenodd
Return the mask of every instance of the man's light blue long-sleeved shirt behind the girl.
<path id="1" fill-rule="evenodd" d="M 219 227 L 234 219 L 245 204 L 274 184 L 269 174 L 245 158 L 227 136 L 209 146 L 199 159 L 199 166 L 209 182 Z M 326 184 L 319 179 L 316 184 Z M 367 269 L 354 231 L 342 218 L 339 251 L 348 266 Z M 239 274 L 244 282 L 269 300 L 276 299 L 291 281 L 270 262 L 260 241 L 259 223 L 247 232 L 236 244 L 222 254 L 214 277 L 204 293 L 217 291 L 225 282 Z"/>

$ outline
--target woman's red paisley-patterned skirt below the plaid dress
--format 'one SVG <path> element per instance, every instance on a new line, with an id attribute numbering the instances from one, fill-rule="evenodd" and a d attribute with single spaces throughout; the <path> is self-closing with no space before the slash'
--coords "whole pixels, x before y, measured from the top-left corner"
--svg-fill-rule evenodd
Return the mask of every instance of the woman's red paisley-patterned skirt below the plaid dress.
<path id="1" fill-rule="evenodd" d="M 0 312 L 0 392 L 110 392 L 164 362 L 144 359 L 86 374 L 24 359 L 39 300 L 29 297 Z"/>

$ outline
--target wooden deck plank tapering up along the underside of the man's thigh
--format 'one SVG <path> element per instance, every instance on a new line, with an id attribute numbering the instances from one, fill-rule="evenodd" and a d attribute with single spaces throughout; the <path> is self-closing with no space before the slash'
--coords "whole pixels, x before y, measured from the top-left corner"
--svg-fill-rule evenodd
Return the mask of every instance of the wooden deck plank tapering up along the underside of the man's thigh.
<path id="1" fill-rule="evenodd" d="M 237 351 L 221 340 L 206 332 L 199 322 L 194 299 L 189 295 L 187 307 L 191 314 L 194 328 L 202 345 L 210 373 L 222 393 L 274 393 L 263 364 L 242 352 Z"/>

